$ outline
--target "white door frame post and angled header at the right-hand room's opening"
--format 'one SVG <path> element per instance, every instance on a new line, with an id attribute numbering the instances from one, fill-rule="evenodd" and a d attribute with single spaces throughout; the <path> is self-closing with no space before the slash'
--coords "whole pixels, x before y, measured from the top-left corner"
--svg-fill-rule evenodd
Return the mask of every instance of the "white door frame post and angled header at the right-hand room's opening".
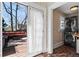
<path id="1" fill-rule="evenodd" d="M 53 53 L 53 10 L 68 2 L 55 2 L 48 7 L 48 49 L 49 54 Z"/>

